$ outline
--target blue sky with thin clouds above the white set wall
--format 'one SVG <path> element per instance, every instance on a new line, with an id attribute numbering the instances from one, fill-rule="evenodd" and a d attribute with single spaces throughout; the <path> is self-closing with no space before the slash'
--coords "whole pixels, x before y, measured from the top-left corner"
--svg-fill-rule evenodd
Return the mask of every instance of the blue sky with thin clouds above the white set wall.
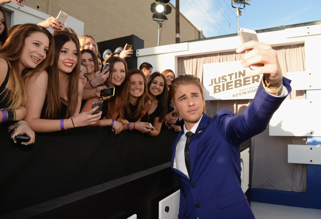
<path id="1" fill-rule="evenodd" d="M 170 3 L 175 5 L 176 0 Z M 239 27 L 247 29 L 321 20 L 320 1 L 317 0 L 250 0 L 247 3 L 250 5 L 241 9 L 239 16 Z M 205 37 L 237 33 L 236 9 L 232 8 L 231 0 L 180 0 L 179 6 L 180 12 L 195 27 L 201 28 Z"/>

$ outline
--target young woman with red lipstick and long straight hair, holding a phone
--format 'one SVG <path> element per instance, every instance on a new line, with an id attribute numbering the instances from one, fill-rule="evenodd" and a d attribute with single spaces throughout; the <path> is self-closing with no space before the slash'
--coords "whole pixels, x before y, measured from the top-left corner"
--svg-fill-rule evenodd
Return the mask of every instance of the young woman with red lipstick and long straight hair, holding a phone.
<path id="1" fill-rule="evenodd" d="M 35 132 L 53 132 L 94 124 L 101 115 L 79 114 L 83 84 L 77 39 L 64 32 L 54 35 L 53 66 L 30 77 L 27 83 L 26 121 Z"/>

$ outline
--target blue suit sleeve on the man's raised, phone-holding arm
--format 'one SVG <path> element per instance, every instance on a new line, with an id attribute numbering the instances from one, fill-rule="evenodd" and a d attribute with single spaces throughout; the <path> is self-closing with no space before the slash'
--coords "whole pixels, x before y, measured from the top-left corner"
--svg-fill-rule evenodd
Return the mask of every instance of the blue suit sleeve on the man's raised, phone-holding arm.
<path id="1" fill-rule="evenodd" d="M 291 92 L 290 80 L 283 77 L 283 85 Z M 235 116 L 228 110 L 221 110 L 217 116 L 218 128 L 231 145 L 240 145 L 247 139 L 263 132 L 273 113 L 287 97 L 276 97 L 267 93 L 260 83 L 256 95 L 244 113 Z"/>

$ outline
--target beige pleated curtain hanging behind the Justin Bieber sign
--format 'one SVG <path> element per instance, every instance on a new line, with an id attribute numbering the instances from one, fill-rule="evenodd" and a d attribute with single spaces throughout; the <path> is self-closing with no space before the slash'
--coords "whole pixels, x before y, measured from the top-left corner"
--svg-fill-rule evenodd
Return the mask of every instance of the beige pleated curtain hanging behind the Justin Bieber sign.
<path id="1" fill-rule="evenodd" d="M 273 47 L 283 76 L 286 72 L 304 71 L 304 44 Z M 203 64 L 236 61 L 241 54 L 223 52 L 216 54 L 178 58 L 178 75 L 194 74 L 203 82 Z M 305 91 L 292 91 L 290 99 L 305 98 Z M 206 113 L 214 115 L 221 109 L 235 114 L 243 113 L 251 102 L 248 100 L 211 100 L 206 101 Z M 283 191 L 305 192 L 307 187 L 307 169 L 304 164 L 288 163 L 288 144 L 305 145 L 305 137 L 269 136 L 269 130 L 253 137 L 252 142 L 252 188 L 275 189 Z"/>

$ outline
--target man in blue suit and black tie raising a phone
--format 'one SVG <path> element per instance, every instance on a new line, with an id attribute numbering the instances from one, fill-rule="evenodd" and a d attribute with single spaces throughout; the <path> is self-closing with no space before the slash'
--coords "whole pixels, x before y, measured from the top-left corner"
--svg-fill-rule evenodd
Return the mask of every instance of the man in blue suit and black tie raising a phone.
<path id="1" fill-rule="evenodd" d="M 251 71 L 251 76 L 264 77 L 243 114 L 235 116 L 221 110 L 211 118 L 204 113 L 205 96 L 199 78 L 184 74 L 171 83 L 172 106 L 185 122 L 172 145 L 171 167 L 181 188 L 178 218 L 254 218 L 241 189 L 240 144 L 266 129 L 291 86 L 282 77 L 270 45 L 250 41 L 236 52 L 245 50 L 251 51 L 242 57 L 244 67 L 263 63 Z"/>

